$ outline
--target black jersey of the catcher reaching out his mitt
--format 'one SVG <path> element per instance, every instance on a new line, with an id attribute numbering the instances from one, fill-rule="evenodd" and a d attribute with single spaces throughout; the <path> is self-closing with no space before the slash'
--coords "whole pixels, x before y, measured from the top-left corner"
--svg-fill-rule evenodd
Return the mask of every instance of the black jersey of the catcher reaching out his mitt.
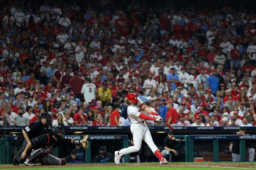
<path id="1" fill-rule="evenodd" d="M 32 144 L 32 148 L 34 150 L 40 149 L 44 146 L 52 146 L 53 149 L 56 148 L 59 144 L 66 144 L 71 143 L 71 139 L 63 138 L 61 139 L 54 139 L 51 133 L 47 133 L 44 135 L 40 135 L 39 137 L 35 137 L 30 140 Z"/>

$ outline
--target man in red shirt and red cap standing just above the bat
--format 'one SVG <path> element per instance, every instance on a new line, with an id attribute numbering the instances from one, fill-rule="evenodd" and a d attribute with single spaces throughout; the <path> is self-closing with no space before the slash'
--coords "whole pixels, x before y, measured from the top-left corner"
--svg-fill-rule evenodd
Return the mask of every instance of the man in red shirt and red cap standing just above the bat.
<path id="1" fill-rule="evenodd" d="M 166 107 L 169 110 L 166 114 L 165 122 L 167 122 L 168 124 L 171 124 L 171 126 L 177 126 L 178 113 L 176 109 L 173 107 L 172 101 L 170 100 L 166 101 Z"/>

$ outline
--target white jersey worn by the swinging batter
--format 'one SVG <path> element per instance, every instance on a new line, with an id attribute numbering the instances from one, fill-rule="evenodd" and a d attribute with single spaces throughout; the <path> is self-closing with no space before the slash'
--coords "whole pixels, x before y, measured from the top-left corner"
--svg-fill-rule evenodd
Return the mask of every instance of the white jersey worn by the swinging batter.
<path id="1" fill-rule="evenodd" d="M 139 98 L 136 99 L 138 99 L 137 105 L 130 105 L 127 107 L 127 114 L 129 115 L 132 123 L 139 123 L 144 121 L 144 119 L 139 118 L 140 113 L 145 114 L 145 111 L 140 108 L 140 105 L 143 103 L 143 101 L 141 101 Z"/>

